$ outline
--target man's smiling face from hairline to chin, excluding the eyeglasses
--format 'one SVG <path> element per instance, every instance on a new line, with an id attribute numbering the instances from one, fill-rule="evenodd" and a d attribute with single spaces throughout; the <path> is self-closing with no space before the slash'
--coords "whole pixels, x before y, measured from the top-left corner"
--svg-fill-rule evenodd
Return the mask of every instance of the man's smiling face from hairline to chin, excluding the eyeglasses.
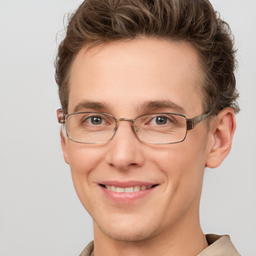
<path id="1" fill-rule="evenodd" d="M 71 66 L 68 113 L 134 118 L 183 108 L 191 118 L 203 113 L 200 73 L 196 51 L 187 44 L 140 39 L 82 49 Z M 94 233 L 143 240 L 197 222 L 207 137 L 201 122 L 182 142 L 146 144 L 126 121 L 111 141 L 101 144 L 64 136 L 64 157 L 77 195 L 93 218 Z M 114 192 L 110 186 L 147 189 Z"/>

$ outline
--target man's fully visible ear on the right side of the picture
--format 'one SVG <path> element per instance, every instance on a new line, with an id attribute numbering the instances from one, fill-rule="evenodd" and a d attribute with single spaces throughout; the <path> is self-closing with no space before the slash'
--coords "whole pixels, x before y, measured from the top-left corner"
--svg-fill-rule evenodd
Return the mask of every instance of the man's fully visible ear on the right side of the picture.
<path id="1" fill-rule="evenodd" d="M 232 138 L 235 131 L 235 114 L 231 107 L 225 107 L 219 111 L 217 117 L 211 120 L 209 133 L 210 149 L 206 158 L 205 165 L 215 168 L 228 155 Z"/>

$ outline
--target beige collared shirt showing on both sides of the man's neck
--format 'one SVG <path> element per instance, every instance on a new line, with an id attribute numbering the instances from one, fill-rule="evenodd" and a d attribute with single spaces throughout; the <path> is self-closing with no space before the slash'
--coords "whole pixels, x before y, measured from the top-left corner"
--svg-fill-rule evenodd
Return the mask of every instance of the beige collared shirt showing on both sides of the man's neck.
<path id="1" fill-rule="evenodd" d="M 206 234 L 209 244 L 197 256 L 241 256 L 232 244 L 229 235 Z M 79 256 L 93 256 L 93 241 L 83 249 Z"/>

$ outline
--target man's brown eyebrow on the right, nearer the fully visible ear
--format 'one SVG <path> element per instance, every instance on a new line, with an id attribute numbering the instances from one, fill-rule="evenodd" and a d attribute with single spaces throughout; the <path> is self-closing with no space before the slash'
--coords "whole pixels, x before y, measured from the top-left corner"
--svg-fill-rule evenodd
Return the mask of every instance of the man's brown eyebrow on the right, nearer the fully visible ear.
<path id="1" fill-rule="evenodd" d="M 142 110 L 142 112 L 168 108 L 177 113 L 185 113 L 185 109 L 182 106 L 179 106 L 170 100 L 147 100 L 143 102 L 139 108 Z"/>

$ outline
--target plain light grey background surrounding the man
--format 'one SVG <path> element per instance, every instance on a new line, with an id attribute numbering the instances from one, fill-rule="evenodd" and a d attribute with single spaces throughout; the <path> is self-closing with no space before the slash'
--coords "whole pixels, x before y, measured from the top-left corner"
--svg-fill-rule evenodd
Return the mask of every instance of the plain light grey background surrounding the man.
<path id="1" fill-rule="evenodd" d="M 0 0 L 0 256 L 75 256 L 92 239 L 55 117 L 56 33 L 80 2 Z M 236 38 L 241 111 L 229 156 L 205 170 L 201 224 L 256 256 L 256 1 L 211 2 Z"/>

